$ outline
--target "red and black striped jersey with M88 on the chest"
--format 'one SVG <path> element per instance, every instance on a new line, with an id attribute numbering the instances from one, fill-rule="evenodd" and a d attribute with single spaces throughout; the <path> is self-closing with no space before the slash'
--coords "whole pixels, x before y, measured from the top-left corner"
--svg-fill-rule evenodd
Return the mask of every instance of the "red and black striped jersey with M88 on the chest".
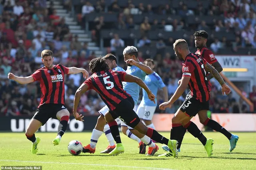
<path id="1" fill-rule="evenodd" d="M 38 107 L 44 103 L 65 105 L 64 75 L 68 71 L 67 67 L 58 64 L 52 69 L 42 67 L 31 75 L 34 81 L 40 81 L 41 101 Z"/>

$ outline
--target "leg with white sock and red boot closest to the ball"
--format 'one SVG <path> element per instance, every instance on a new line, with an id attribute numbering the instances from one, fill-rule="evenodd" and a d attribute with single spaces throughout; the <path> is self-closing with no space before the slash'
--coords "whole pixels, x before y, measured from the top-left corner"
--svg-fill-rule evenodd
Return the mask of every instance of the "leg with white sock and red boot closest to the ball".
<path id="1" fill-rule="evenodd" d="M 95 128 L 92 130 L 92 136 L 90 140 L 90 144 L 84 146 L 83 153 L 94 153 L 96 150 L 96 144 L 103 133 L 104 125 L 106 124 L 104 115 L 100 114 L 98 117 Z"/>

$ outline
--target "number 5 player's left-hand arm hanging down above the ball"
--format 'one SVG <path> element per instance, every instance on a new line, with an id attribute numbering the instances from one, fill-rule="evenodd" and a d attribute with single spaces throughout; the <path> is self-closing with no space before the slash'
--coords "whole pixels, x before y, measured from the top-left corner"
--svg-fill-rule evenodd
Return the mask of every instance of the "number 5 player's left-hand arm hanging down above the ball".
<path id="1" fill-rule="evenodd" d="M 89 89 L 88 85 L 86 83 L 83 83 L 77 90 L 74 97 L 74 106 L 73 106 L 73 115 L 78 121 L 84 121 L 82 120 L 84 116 L 79 115 L 77 113 L 77 107 L 81 98 L 81 95 L 85 93 Z"/>

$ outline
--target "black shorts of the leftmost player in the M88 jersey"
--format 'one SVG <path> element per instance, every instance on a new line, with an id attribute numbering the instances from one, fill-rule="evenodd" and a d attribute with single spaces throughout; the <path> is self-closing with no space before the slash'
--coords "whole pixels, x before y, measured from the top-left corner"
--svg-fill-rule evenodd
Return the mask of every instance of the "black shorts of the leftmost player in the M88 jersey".
<path id="1" fill-rule="evenodd" d="M 62 109 L 66 109 L 66 107 L 61 104 L 43 104 L 36 110 L 33 119 L 40 121 L 44 125 L 50 118 L 57 119 L 56 114 Z"/>

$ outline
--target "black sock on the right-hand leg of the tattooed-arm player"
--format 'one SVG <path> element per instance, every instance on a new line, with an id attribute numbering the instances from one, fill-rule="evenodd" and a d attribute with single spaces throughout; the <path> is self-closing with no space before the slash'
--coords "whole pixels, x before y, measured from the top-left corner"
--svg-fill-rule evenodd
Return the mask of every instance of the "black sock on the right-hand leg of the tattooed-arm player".
<path id="1" fill-rule="evenodd" d="M 184 127 L 187 128 L 188 132 L 190 132 L 195 138 L 198 138 L 203 145 L 206 144 L 207 139 L 196 124 L 190 121 Z"/>

